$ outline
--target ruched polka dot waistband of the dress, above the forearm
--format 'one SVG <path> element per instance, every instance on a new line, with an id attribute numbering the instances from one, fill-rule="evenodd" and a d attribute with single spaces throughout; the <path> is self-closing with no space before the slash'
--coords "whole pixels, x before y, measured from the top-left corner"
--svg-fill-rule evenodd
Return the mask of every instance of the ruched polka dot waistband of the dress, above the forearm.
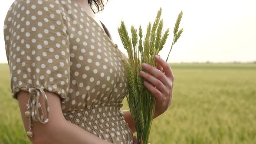
<path id="1" fill-rule="evenodd" d="M 103 134 L 104 131 L 120 131 L 120 129 L 121 132 L 124 132 L 123 134 L 127 134 L 128 124 L 123 117 L 121 107 L 121 103 L 100 104 L 73 110 L 63 113 L 63 115 L 67 121 L 77 124 L 95 135 Z"/>

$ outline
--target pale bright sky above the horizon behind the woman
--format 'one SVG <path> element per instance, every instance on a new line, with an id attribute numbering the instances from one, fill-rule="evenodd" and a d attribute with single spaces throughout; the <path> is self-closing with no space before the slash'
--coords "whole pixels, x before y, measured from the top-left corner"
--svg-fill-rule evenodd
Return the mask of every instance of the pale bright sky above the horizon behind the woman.
<path id="1" fill-rule="evenodd" d="M 0 9 L 0 62 L 7 62 L 3 22 L 13 0 L 5 0 Z M 105 23 L 115 43 L 121 44 L 117 28 L 121 20 L 146 29 L 162 7 L 164 28 L 170 36 L 160 55 L 167 58 L 178 13 L 183 11 L 180 39 L 168 62 L 252 62 L 256 61 L 256 0 L 110 0 L 98 18 Z"/>

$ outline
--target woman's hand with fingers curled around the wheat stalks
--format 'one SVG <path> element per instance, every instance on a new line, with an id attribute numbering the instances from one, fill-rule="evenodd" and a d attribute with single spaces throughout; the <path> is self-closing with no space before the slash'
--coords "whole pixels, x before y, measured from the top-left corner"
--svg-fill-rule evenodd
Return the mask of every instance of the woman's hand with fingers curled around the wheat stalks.
<path id="1" fill-rule="evenodd" d="M 146 69 L 152 75 L 140 71 L 139 74 L 147 79 L 148 82 L 144 81 L 144 85 L 156 98 L 156 105 L 154 111 L 154 118 L 163 114 L 167 108 L 171 105 L 172 89 L 174 85 L 174 75 L 171 70 L 171 66 L 165 62 L 160 56 L 155 55 L 154 59 L 157 63 L 157 69 L 146 63 L 142 63 L 142 68 Z M 162 70 L 164 69 L 164 73 Z M 154 77 L 155 76 L 155 77 Z"/>

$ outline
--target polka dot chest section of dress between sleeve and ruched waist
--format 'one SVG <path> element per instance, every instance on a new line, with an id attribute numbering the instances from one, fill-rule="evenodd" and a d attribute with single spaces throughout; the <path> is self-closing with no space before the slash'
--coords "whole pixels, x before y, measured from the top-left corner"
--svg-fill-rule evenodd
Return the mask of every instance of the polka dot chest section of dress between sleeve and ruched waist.
<path id="1" fill-rule="evenodd" d="M 70 25 L 71 88 L 86 95 L 104 94 L 105 102 L 121 101 L 128 92 L 121 51 L 95 21 L 85 19 Z"/>

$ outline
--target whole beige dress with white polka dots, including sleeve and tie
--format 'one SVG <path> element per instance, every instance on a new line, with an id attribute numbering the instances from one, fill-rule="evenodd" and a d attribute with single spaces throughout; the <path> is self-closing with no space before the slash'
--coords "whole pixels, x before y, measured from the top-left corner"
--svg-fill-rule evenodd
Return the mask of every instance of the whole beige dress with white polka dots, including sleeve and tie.
<path id="1" fill-rule="evenodd" d="M 30 94 L 24 115 L 31 121 L 49 119 L 44 91 L 61 98 L 67 121 L 105 141 L 132 144 L 133 134 L 121 112 L 128 94 L 127 57 L 75 0 L 15 0 L 4 21 L 4 40 L 14 99 Z M 46 116 L 42 116 L 42 93 Z"/>

